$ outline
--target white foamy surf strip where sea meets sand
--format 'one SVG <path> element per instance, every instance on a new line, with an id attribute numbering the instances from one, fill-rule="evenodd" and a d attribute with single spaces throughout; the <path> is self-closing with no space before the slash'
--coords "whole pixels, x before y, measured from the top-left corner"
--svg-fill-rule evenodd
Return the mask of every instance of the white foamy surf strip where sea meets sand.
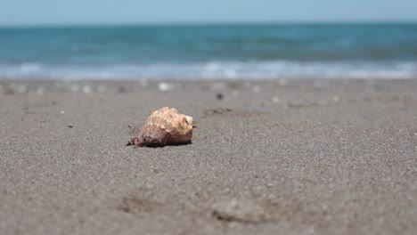
<path id="1" fill-rule="evenodd" d="M 209 61 L 110 65 L 45 65 L 36 62 L 0 65 L 0 77 L 59 79 L 259 79 L 259 78 L 417 78 L 417 61 L 300 62 Z"/>

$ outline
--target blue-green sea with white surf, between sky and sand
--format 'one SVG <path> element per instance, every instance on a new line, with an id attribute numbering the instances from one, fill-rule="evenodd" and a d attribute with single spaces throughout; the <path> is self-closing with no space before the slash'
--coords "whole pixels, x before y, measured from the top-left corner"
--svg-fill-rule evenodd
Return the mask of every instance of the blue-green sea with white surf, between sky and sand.
<path id="1" fill-rule="evenodd" d="M 415 78 L 417 24 L 0 28 L 0 77 Z"/>

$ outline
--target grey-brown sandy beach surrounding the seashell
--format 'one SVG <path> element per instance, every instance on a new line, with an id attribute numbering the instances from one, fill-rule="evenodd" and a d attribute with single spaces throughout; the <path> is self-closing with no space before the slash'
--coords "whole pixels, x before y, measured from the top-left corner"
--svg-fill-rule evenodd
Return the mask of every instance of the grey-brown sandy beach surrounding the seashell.
<path id="1" fill-rule="evenodd" d="M 0 84 L 1 234 L 417 231 L 417 80 Z"/>

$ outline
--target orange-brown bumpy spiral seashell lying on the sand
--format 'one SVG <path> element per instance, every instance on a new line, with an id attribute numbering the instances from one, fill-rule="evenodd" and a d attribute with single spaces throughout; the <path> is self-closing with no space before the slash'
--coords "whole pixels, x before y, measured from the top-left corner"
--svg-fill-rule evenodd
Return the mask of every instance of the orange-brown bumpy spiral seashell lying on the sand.
<path id="1" fill-rule="evenodd" d="M 152 112 L 143 125 L 141 134 L 127 145 L 164 146 L 186 143 L 192 138 L 192 117 L 178 113 L 176 109 L 164 107 Z"/>

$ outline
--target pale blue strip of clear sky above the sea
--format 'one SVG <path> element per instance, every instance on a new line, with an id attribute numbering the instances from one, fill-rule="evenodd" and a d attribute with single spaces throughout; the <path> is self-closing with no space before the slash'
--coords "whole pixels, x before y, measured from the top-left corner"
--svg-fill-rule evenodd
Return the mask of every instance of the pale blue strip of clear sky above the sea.
<path id="1" fill-rule="evenodd" d="M 417 0 L 0 0 L 0 25 L 417 21 Z"/>

